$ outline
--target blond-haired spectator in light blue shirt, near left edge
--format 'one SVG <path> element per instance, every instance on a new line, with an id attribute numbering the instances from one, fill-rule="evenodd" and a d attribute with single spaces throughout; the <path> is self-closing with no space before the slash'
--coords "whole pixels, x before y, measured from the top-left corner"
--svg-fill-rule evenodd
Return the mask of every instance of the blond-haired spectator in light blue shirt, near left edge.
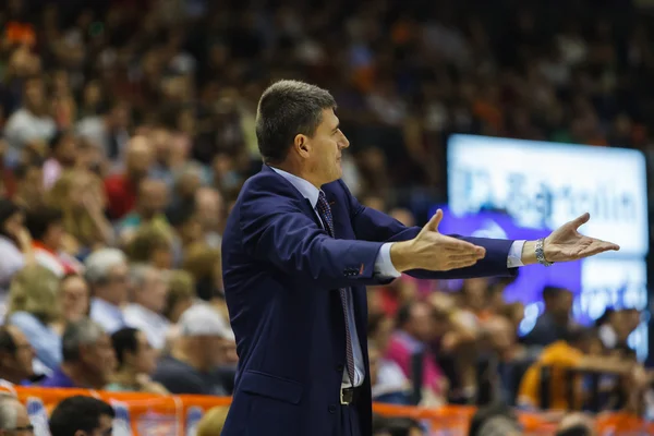
<path id="1" fill-rule="evenodd" d="M 38 361 L 49 370 L 61 364 L 58 289 L 55 272 L 34 264 L 15 275 L 9 291 L 8 323 L 23 331 Z"/>

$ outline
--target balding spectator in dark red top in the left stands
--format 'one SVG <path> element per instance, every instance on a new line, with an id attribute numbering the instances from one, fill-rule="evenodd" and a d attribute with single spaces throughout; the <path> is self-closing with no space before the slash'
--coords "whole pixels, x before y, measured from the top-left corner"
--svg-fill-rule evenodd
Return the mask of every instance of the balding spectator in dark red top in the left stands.
<path id="1" fill-rule="evenodd" d="M 116 173 L 105 180 L 111 219 L 122 219 L 134 209 L 137 190 L 147 177 L 152 161 L 153 152 L 148 140 L 145 136 L 132 137 L 126 146 L 124 172 Z"/>

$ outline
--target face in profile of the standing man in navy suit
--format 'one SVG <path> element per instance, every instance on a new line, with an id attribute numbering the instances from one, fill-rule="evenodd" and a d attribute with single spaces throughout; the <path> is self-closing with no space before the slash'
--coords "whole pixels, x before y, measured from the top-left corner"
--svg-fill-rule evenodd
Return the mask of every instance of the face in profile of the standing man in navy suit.
<path id="1" fill-rule="evenodd" d="M 341 152 L 349 146 L 334 109 L 324 109 L 323 122 L 312 137 L 306 136 L 306 143 L 298 150 L 305 159 L 307 172 L 322 185 L 342 177 Z"/>

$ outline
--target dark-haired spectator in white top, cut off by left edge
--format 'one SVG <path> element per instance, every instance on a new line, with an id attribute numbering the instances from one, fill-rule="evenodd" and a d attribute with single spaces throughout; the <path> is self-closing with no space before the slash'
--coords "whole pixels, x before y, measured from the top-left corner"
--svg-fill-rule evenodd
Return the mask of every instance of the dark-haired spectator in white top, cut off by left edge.
<path id="1" fill-rule="evenodd" d="M 11 278 L 34 261 L 32 237 L 24 220 L 15 203 L 0 198 L 0 290 L 8 289 Z"/>

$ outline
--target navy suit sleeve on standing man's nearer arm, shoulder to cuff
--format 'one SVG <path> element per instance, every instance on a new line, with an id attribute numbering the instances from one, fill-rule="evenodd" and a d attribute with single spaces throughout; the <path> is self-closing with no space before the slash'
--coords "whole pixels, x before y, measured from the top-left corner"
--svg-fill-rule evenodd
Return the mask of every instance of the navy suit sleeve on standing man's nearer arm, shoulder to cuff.
<path id="1" fill-rule="evenodd" d="M 374 271 L 382 242 L 335 240 L 294 199 L 263 187 L 244 193 L 240 228 L 249 254 L 294 279 L 324 289 L 389 281 Z"/>

